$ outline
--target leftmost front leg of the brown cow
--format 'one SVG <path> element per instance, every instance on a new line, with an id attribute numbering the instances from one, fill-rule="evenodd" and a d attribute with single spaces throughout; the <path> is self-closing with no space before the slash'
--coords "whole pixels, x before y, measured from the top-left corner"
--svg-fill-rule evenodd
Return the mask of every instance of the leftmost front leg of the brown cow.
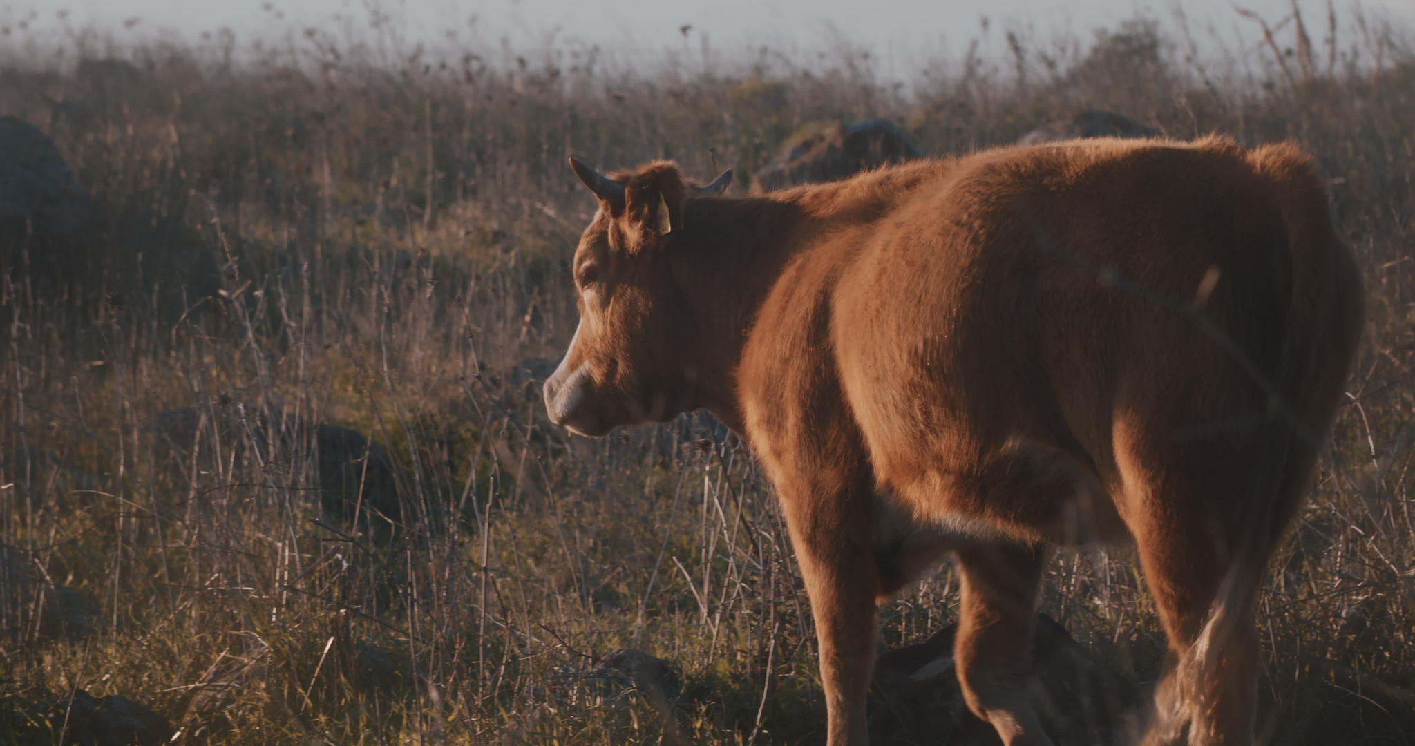
<path id="1" fill-rule="evenodd" d="M 821 647 L 829 746 L 869 742 L 865 698 L 874 665 L 872 501 L 863 469 L 831 464 L 777 480 Z"/>

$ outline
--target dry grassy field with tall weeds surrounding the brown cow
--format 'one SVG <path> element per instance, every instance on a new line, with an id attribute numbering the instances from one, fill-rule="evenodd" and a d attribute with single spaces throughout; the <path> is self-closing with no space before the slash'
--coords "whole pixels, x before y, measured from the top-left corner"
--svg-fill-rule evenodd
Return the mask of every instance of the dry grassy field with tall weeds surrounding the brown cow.
<path id="1" fill-rule="evenodd" d="M 249 62 L 221 37 L 0 50 L 0 115 L 50 132 L 99 204 L 0 268 L 0 745 L 58 743 L 38 713 L 75 688 L 151 706 L 178 743 L 821 742 L 750 453 L 706 418 L 593 442 L 545 419 L 533 358 L 573 328 L 594 207 L 565 157 L 743 184 L 814 122 L 886 116 L 949 154 L 1082 108 L 1319 154 L 1370 323 L 1262 597 L 1259 725 L 1415 743 L 1415 45 L 1305 28 L 1223 59 L 1179 20 L 990 28 L 1005 55 L 921 61 L 908 86 L 857 50 L 651 69 L 320 31 Z M 133 64 L 74 64 L 108 57 Z M 372 440 L 333 500 L 320 423 Z M 1043 610 L 1153 681 L 1131 553 L 1058 555 Z M 884 643 L 951 620 L 954 587 L 945 568 L 890 603 Z M 676 668 L 666 716 L 584 675 L 624 647 Z"/>

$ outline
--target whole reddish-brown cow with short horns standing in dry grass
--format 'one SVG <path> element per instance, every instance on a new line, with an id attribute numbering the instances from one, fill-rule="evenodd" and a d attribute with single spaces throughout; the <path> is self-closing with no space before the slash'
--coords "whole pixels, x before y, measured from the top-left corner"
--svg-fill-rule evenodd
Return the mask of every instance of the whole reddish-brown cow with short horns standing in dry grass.
<path id="1" fill-rule="evenodd" d="M 756 198 L 604 177 L 545 385 L 584 433 L 708 408 L 781 497 L 829 743 L 865 743 L 877 602 L 952 552 L 955 664 L 1006 743 L 1047 545 L 1129 535 L 1173 665 L 1148 743 L 1247 743 L 1265 563 L 1363 323 L 1293 144 L 1077 140 Z"/>

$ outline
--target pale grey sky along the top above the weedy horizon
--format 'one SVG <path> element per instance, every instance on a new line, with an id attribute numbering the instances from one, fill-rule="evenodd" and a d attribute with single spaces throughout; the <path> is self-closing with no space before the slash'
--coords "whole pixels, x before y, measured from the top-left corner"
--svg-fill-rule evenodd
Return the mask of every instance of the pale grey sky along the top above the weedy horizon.
<path id="1" fill-rule="evenodd" d="M 249 51 L 256 40 L 280 42 L 304 28 L 318 28 L 344 41 L 392 41 L 402 51 L 422 45 L 432 51 L 529 57 L 559 47 L 599 47 L 628 64 L 654 64 L 668 54 L 692 58 L 702 50 L 722 55 L 760 47 L 799 61 L 848 48 L 869 51 L 876 72 L 907 78 L 930 59 L 959 58 L 974 40 L 979 40 L 985 55 L 1005 54 L 1006 31 L 1033 40 L 1085 42 L 1097 30 L 1115 30 L 1126 20 L 1143 17 L 1157 20 L 1162 30 L 1177 33 L 1177 7 L 1172 0 L 1090 0 L 1070 7 L 1029 0 L 957 0 L 947 7 L 942 3 L 867 7 L 850 0 L 809 4 L 617 0 L 597 7 L 567 0 L 470 4 L 450 0 L 238 0 L 218 7 L 171 0 L 59 0 L 0 4 L 0 24 L 14 34 L 8 37 L 10 44 L 55 48 L 79 35 L 119 48 L 153 41 L 200 45 L 209 34 L 229 30 L 238 51 Z M 1245 55 L 1262 45 L 1259 24 L 1244 18 L 1235 7 L 1252 10 L 1274 25 L 1290 13 L 1289 0 L 1189 3 L 1183 17 L 1203 54 Z M 1298 7 L 1313 44 L 1324 48 L 1327 4 L 1300 0 Z M 1357 44 L 1360 30 L 1354 18 L 1358 13 L 1375 23 L 1388 21 L 1399 31 L 1415 27 L 1415 1 L 1339 1 L 1336 8 L 1343 50 Z M 379 33 L 372 30 L 375 13 L 383 17 Z M 988 33 L 983 33 L 985 24 Z M 1288 40 L 1290 31 L 1289 24 L 1278 30 L 1278 35 Z"/>

